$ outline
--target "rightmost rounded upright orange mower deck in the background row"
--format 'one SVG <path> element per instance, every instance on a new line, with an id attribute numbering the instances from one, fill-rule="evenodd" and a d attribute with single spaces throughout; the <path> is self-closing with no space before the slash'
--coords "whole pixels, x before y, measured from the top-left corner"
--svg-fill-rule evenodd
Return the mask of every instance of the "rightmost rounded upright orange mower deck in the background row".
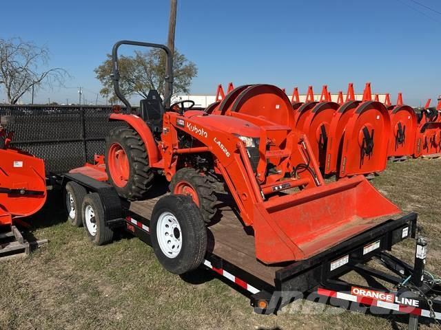
<path id="1" fill-rule="evenodd" d="M 418 128 L 415 111 L 407 105 L 398 105 L 389 111 L 389 115 L 391 116 L 391 134 L 389 135 L 388 157 L 413 155 Z"/>

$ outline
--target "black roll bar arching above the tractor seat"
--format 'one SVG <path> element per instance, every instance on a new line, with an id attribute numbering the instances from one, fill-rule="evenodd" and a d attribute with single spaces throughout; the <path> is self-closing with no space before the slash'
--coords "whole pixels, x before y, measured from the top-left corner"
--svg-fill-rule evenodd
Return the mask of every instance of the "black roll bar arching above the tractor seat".
<path id="1" fill-rule="evenodd" d="M 170 100 L 173 95 L 173 54 L 170 51 L 170 49 L 165 46 L 161 45 L 159 43 L 143 43 L 141 41 L 129 41 L 129 40 L 122 40 L 118 41 L 114 44 L 112 49 L 112 80 L 113 80 L 113 87 L 116 96 L 125 104 L 127 113 L 130 113 L 132 111 L 132 106 L 130 105 L 129 101 L 123 96 L 121 93 L 121 89 L 119 89 L 119 68 L 118 68 L 118 49 L 121 45 L 132 45 L 132 46 L 141 46 L 141 47 L 150 47 L 150 48 L 159 48 L 165 52 L 167 55 L 167 72 L 165 72 L 165 83 L 168 85 L 167 95 L 164 95 L 164 101 L 163 106 L 164 109 L 168 109 L 170 107 Z"/>

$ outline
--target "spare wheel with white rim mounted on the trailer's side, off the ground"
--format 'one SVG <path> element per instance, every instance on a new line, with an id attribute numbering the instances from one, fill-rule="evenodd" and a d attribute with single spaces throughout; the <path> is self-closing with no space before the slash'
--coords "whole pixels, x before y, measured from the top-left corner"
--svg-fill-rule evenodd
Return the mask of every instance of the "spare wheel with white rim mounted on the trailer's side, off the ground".
<path id="1" fill-rule="evenodd" d="M 201 211 L 191 198 L 168 195 L 153 208 L 152 247 L 163 267 L 184 274 L 199 267 L 207 250 L 207 230 Z"/>

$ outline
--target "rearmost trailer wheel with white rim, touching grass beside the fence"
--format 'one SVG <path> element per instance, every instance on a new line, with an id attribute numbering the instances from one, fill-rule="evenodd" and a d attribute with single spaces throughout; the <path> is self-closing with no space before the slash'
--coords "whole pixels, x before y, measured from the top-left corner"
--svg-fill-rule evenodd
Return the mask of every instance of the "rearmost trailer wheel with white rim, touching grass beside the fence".
<path id="1" fill-rule="evenodd" d="M 74 181 L 69 181 L 64 190 L 64 200 L 66 203 L 66 210 L 68 211 L 68 221 L 75 227 L 83 225 L 83 218 L 81 217 L 81 205 L 85 195 L 88 191 Z"/>

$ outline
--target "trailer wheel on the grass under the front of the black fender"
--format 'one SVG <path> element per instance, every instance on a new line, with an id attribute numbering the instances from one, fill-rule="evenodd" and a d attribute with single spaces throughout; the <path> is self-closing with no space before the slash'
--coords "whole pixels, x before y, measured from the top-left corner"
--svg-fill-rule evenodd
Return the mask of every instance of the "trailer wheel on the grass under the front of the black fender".
<path id="1" fill-rule="evenodd" d="M 103 202 L 96 192 L 86 195 L 81 206 L 85 232 L 92 243 L 103 245 L 110 243 L 114 232 L 105 224 Z"/>

